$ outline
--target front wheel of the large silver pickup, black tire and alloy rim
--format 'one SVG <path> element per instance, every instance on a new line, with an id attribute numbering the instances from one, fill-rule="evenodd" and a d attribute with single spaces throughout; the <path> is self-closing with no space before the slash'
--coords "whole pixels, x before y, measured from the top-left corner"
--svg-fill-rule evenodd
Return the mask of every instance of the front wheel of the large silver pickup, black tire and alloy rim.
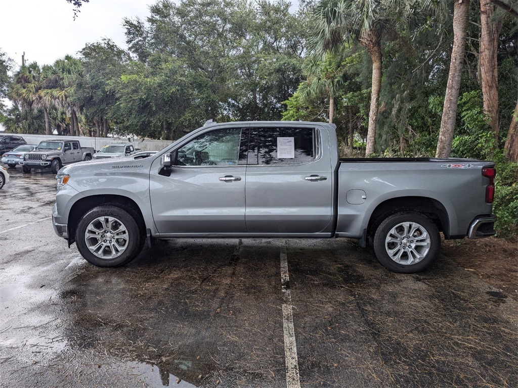
<path id="1" fill-rule="evenodd" d="M 81 256 L 98 267 L 129 263 L 140 253 L 145 241 L 138 219 L 130 208 L 112 204 L 94 207 L 82 217 L 76 229 L 76 244 Z M 86 234 L 88 231 L 90 233 Z"/>

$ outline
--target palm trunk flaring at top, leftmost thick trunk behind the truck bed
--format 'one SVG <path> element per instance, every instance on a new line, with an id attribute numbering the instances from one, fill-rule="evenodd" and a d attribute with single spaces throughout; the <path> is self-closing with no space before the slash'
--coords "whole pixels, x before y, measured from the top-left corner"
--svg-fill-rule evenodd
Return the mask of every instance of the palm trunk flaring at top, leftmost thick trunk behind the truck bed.
<path id="1" fill-rule="evenodd" d="M 367 129 L 367 147 L 365 156 L 374 153 L 376 142 L 376 121 L 381 91 L 381 34 L 375 29 L 362 34 L 360 42 L 367 48 L 372 61 L 372 84 L 370 91 L 369 127 Z"/>

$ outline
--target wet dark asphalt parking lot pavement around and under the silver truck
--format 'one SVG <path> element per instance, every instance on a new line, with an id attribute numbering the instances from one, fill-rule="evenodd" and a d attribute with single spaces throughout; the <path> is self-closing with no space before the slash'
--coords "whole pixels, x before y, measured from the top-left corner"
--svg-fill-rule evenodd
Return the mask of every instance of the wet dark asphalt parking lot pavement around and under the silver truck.
<path id="1" fill-rule="evenodd" d="M 49 171 L 0 190 L 2 387 L 515 387 L 518 304 L 441 256 L 336 240 L 170 240 L 97 268 Z"/>

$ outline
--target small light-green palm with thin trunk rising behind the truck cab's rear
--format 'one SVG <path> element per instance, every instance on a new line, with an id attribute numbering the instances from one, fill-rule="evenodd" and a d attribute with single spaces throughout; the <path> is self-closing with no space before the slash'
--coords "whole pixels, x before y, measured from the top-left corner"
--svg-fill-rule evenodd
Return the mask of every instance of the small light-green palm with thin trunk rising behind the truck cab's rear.
<path id="1" fill-rule="evenodd" d="M 323 58 L 313 55 L 303 64 L 307 78 L 299 86 L 300 95 L 304 100 L 326 95 L 329 98 L 329 123 L 333 123 L 335 115 L 335 96 L 346 81 L 344 70 L 341 56 L 330 52 Z"/>

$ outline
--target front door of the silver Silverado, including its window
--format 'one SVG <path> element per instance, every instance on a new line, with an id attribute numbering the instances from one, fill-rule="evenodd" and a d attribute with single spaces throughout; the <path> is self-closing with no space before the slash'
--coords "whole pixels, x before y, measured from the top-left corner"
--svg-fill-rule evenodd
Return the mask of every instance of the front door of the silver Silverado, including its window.
<path id="1" fill-rule="evenodd" d="M 248 129 L 212 129 L 172 151 L 170 176 L 150 172 L 157 231 L 167 236 L 244 233 Z M 175 152 L 176 151 L 176 152 Z"/>

